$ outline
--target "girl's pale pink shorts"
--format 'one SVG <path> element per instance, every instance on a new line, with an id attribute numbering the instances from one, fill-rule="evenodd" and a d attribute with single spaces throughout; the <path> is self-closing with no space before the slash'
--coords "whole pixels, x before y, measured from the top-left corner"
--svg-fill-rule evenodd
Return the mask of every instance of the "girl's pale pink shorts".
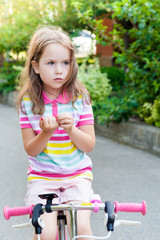
<path id="1" fill-rule="evenodd" d="M 61 204 L 68 201 L 90 202 L 93 194 L 92 182 L 86 178 L 64 179 L 61 181 L 40 180 L 28 182 L 25 202 L 27 206 L 42 203 L 46 200 L 38 197 L 39 194 L 56 193 L 59 197 L 52 203 Z"/>

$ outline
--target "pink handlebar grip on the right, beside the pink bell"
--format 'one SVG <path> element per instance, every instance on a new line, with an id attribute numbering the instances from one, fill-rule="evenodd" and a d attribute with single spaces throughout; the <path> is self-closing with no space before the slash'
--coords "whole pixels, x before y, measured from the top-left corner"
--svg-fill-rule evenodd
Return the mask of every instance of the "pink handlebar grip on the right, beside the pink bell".
<path id="1" fill-rule="evenodd" d="M 141 212 L 143 215 L 146 214 L 146 202 L 142 203 L 118 203 L 114 202 L 115 213 L 117 212 Z"/>

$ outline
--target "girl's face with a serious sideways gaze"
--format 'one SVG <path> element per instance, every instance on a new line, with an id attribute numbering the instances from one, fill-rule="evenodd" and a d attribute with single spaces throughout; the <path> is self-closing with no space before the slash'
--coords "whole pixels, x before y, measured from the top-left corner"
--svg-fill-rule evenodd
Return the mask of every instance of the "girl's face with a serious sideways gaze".
<path id="1" fill-rule="evenodd" d="M 60 43 L 50 43 L 45 47 L 39 62 L 32 61 L 32 66 L 40 75 L 44 90 L 58 96 L 68 80 L 70 49 Z"/>

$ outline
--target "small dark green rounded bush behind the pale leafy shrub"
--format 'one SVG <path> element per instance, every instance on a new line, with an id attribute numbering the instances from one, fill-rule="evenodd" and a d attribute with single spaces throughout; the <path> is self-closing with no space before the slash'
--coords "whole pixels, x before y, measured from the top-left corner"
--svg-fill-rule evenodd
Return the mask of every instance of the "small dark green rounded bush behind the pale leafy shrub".
<path id="1" fill-rule="evenodd" d="M 107 73 L 111 80 L 111 85 L 114 91 L 121 89 L 125 85 L 125 73 L 118 67 L 101 67 L 102 73 Z"/>

